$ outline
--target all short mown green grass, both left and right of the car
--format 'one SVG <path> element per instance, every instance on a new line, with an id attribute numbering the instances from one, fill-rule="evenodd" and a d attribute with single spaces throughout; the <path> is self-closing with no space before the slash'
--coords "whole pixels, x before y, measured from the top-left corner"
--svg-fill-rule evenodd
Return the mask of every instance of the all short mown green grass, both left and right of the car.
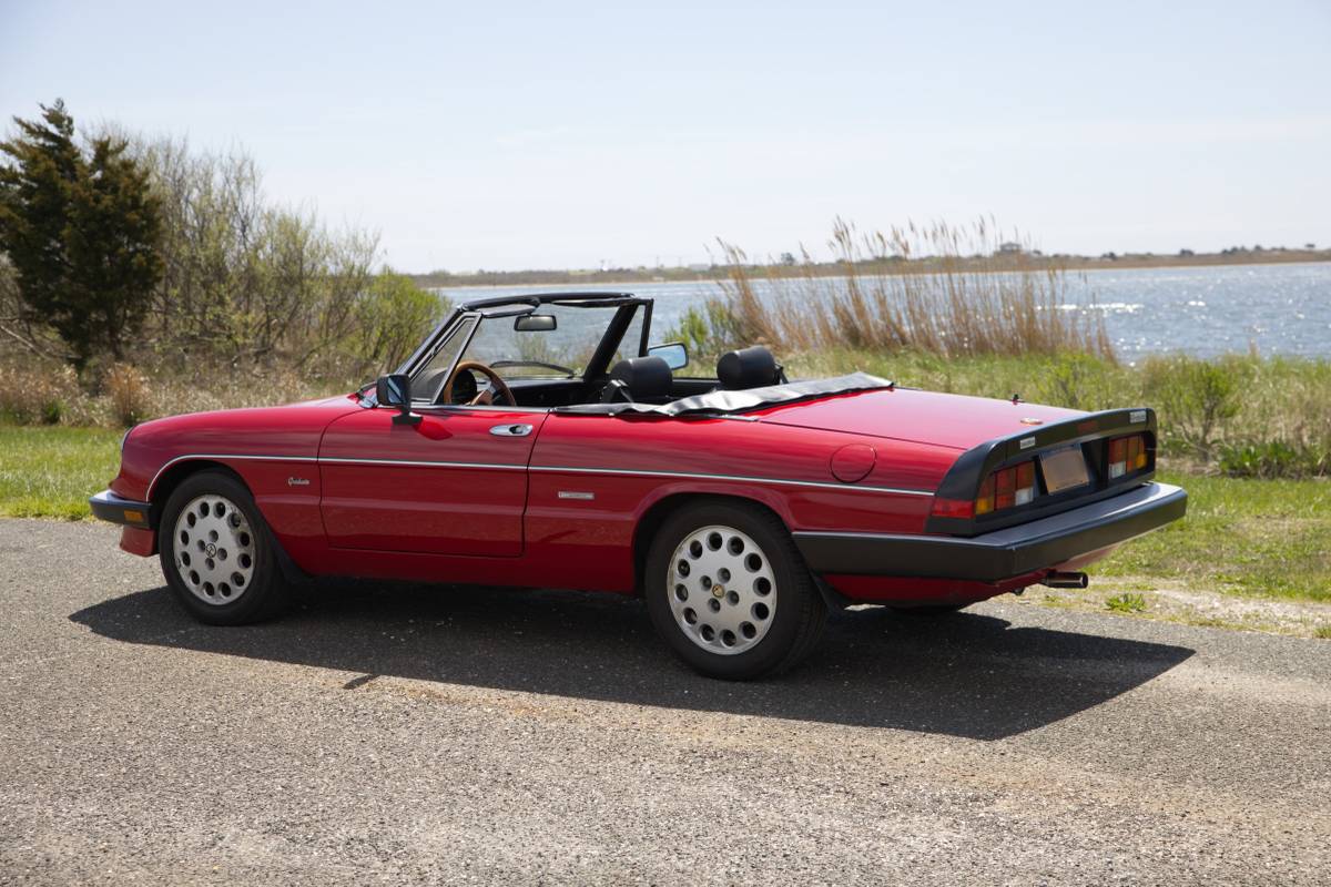
<path id="1" fill-rule="evenodd" d="M 121 432 L 0 426 L 0 515 L 88 517 L 89 495 L 116 475 Z M 1331 601 L 1331 481 L 1239 480 L 1162 472 L 1187 488 L 1187 519 L 1133 540 L 1097 577 L 1151 580 L 1234 594 Z"/>

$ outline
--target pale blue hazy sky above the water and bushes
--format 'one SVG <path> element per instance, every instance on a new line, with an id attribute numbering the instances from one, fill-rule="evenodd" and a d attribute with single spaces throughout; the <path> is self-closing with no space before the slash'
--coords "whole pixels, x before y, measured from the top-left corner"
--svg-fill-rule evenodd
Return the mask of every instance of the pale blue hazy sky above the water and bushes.
<path id="1" fill-rule="evenodd" d="M 242 148 L 398 270 L 1331 246 L 1331 3 L 0 0 L 0 114 Z"/>

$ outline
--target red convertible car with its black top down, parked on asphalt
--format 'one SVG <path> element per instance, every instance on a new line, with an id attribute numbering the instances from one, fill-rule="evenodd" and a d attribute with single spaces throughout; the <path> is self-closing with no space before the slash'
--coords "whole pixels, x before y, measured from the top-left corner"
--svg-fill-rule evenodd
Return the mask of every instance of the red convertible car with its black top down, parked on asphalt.
<path id="1" fill-rule="evenodd" d="M 864 374 L 715 374 L 648 347 L 652 301 L 470 302 L 354 394 L 158 419 L 92 497 L 197 618 L 277 613 L 307 576 L 643 594 L 695 669 L 800 661 L 829 608 L 948 613 L 1182 517 L 1147 408 L 1077 412 Z"/>

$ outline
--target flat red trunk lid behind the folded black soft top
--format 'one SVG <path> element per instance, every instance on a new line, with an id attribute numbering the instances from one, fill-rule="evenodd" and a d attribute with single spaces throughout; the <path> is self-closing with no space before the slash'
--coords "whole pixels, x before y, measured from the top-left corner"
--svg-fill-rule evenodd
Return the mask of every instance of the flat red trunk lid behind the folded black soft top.
<path id="1" fill-rule="evenodd" d="M 954 449 L 1085 415 L 1033 403 L 880 388 L 764 410 L 764 423 L 844 431 Z"/>

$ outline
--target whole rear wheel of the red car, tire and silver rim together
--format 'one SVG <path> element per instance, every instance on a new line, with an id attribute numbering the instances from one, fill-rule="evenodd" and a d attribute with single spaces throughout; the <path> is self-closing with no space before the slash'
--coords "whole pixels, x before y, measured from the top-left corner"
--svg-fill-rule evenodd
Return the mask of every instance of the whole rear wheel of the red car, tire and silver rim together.
<path id="1" fill-rule="evenodd" d="M 785 672 L 809 654 L 827 624 L 827 605 L 789 532 L 756 505 L 704 500 L 680 508 L 652 541 L 646 569 L 658 633 L 708 677 Z"/>

